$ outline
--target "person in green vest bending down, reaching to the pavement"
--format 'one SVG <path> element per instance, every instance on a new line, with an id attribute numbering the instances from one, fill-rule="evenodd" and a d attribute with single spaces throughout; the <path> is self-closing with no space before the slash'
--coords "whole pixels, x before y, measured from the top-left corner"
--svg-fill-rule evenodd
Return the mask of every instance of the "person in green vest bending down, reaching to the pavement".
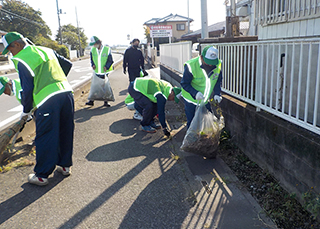
<path id="1" fill-rule="evenodd" d="M 164 80 L 154 78 L 137 78 L 131 82 L 128 92 L 134 98 L 135 109 L 141 111 L 143 119 L 140 122 L 142 131 L 155 133 L 156 129 L 161 129 L 163 133 L 170 137 L 167 129 L 165 105 L 167 100 L 179 102 L 181 89 L 172 87 Z M 160 125 L 155 124 L 154 116 L 159 115 Z"/>

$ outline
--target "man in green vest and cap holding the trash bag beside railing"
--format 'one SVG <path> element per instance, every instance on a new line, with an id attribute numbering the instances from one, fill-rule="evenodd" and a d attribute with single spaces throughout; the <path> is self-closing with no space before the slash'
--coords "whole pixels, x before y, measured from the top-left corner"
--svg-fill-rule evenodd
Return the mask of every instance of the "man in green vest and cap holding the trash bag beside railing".
<path id="1" fill-rule="evenodd" d="M 222 83 L 222 61 L 218 58 L 218 49 L 206 46 L 201 56 L 193 58 L 184 64 L 184 73 L 181 79 L 182 97 L 189 128 L 194 117 L 196 105 L 204 102 L 209 111 L 209 98 L 214 95 L 214 101 L 220 103 Z"/>

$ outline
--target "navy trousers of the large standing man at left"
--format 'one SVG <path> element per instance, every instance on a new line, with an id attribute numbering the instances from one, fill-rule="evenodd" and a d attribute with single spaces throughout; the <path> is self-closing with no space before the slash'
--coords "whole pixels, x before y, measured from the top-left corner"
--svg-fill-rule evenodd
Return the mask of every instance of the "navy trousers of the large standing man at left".
<path id="1" fill-rule="evenodd" d="M 47 178 L 56 165 L 72 165 L 74 99 L 72 92 L 49 98 L 35 111 L 36 176 Z"/>

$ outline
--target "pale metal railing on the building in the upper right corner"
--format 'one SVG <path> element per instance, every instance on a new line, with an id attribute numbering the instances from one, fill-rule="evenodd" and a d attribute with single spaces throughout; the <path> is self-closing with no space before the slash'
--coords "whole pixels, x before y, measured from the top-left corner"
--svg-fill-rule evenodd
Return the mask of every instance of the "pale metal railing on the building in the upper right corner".
<path id="1" fill-rule="evenodd" d="M 261 25 L 304 20 L 320 16 L 320 0 L 257 0 L 257 23 Z"/>

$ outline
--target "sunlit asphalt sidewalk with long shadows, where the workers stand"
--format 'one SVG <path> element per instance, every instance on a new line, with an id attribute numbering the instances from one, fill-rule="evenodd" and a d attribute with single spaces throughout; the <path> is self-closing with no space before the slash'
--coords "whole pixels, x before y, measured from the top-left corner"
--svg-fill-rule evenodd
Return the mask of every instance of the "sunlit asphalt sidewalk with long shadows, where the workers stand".
<path id="1" fill-rule="evenodd" d="M 167 102 L 172 140 L 144 133 L 124 104 L 128 76 L 109 78 L 110 108 L 77 101 L 70 177 L 38 187 L 27 183 L 33 167 L 0 174 L 0 228 L 276 228 L 222 160 L 179 151 L 181 108 Z"/>

